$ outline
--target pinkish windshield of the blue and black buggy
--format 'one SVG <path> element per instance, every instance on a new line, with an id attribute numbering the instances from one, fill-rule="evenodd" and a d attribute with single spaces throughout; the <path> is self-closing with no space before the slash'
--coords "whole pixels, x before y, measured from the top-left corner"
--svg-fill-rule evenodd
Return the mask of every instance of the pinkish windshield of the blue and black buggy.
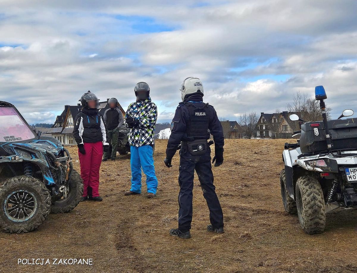
<path id="1" fill-rule="evenodd" d="M 34 131 L 14 108 L 0 107 L 0 142 L 15 142 L 36 137 Z"/>

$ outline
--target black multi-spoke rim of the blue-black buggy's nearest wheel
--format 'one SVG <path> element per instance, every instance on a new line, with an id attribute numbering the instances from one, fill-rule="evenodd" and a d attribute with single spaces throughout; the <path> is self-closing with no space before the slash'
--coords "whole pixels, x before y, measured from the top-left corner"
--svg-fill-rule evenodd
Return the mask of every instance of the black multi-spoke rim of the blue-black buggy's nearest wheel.
<path id="1" fill-rule="evenodd" d="M 35 196 L 26 190 L 16 190 L 7 195 L 4 203 L 4 212 L 9 220 L 24 222 L 34 216 L 37 201 Z"/>

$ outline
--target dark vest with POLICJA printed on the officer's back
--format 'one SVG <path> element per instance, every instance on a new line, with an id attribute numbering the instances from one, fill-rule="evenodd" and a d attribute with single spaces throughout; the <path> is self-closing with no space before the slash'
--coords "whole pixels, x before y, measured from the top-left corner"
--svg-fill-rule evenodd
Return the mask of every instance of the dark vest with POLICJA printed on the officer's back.
<path id="1" fill-rule="evenodd" d="M 208 123 L 210 120 L 208 110 L 208 103 L 203 103 L 202 107 L 194 104 L 185 103 L 190 118 L 186 124 L 187 137 L 194 139 L 209 139 Z"/>

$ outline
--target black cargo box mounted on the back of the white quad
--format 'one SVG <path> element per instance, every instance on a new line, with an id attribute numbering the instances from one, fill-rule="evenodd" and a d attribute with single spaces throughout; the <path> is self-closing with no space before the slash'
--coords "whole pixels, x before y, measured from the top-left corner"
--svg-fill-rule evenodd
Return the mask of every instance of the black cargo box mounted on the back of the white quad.
<path id="1" fill-rule="evenodd" d="M 328 121 L 332 150 L 357 149 L 357 120 L 333 119 Z M 317 124 L 319 124 L 317 126 Z M 312 125 L 312 126 L 311 126 Z M 300 148 L 303 154 L 327 150 L 325 126 L 322 121 L 307 122 L 301 126 Z"/>

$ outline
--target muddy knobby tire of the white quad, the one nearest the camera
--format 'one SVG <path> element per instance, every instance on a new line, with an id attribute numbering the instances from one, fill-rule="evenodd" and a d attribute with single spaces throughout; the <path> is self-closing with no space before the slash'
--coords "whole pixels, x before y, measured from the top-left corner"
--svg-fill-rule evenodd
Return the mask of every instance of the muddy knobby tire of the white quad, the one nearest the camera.
<path id="1" fill-rule="evenodd" d="M 296 205 L 300 225 L 307 234 L 325 230 L 325 200 L 320 182 L 315 177 L 299 177 L 296 182 Z"/>

